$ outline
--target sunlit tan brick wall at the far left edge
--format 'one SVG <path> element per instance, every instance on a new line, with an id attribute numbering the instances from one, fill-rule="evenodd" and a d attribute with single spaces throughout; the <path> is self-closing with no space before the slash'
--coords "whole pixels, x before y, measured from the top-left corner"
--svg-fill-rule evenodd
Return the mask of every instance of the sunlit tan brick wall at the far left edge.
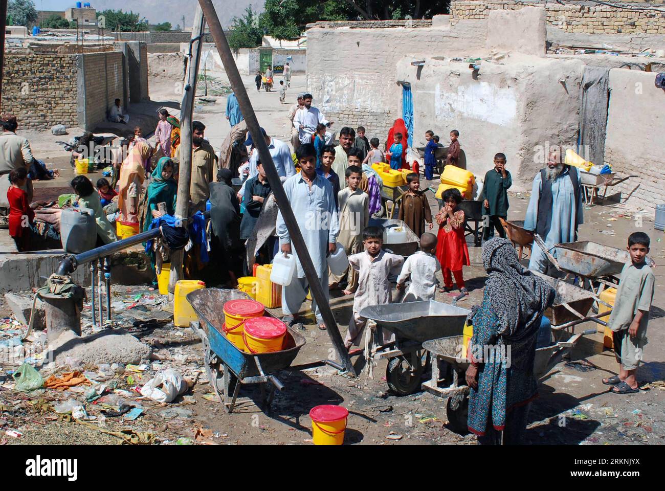
<path id="1" fill-rule="evenodd" d="M 21 128 L 76 126 L 76 56 L 5 53 L 2 110 Z"/>

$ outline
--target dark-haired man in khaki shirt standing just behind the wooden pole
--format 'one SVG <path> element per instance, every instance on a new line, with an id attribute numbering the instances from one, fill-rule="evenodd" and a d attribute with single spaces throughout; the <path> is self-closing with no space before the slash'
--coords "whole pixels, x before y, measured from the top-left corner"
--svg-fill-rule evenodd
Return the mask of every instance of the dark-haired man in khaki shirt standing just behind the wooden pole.
<path id="1" fill-rule="evenodd" d="M 210 183 L 217 176 L 217 156 L 212 146 L 203 139 L 205 124 L 192 122 L 192 181 L 190 182 L 190 201 L 194 212 L 205 211 L 205 202 L 210 196 Z M 178 146 L 174 160 L 180 162 Z"/>

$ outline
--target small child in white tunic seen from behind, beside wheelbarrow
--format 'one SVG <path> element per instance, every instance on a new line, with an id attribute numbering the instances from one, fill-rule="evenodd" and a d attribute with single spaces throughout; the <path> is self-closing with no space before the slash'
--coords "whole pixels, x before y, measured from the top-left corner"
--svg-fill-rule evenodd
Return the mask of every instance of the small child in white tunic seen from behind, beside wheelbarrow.
<path id="1" fill-rule="evenodd" d="M 397 289 L 404 288 L 404 283 L 408 277 L 411 277 L 406 295 L 403 302 L 412 302 L 416 300 L 434 300 L 434 291 L 436 291 L 436 273 L 441 271 L 441 264 L 434 255 L 436 253 L 436 236 L 426 232 L 420 237 L 420 251 L 410 255 L 404 266 L 402 273 L 397 278 Z"/>

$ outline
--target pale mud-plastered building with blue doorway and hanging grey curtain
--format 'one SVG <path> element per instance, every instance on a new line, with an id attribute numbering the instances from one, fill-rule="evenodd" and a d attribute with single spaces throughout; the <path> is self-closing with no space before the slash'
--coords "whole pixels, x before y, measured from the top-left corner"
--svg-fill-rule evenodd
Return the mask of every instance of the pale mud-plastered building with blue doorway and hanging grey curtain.
<path id="1" fill-rule="evenodd" d="M 648 135 L 665 130 L 659 117 L 665 91 L 654 86 L 656 73 L 639 69 L 645 59 L 563 49 L 593 42 L 600 48 L 606 36 L 599 43 L 596 35 L 547 25 L 547 11 L 539 7 L 493 9 L 486 19 L 455 22 L 442 15 L 417 26 L 402 21 L 390 28 L 373 22 L 309 27 L 308 88 L 335 130 L 362 124 L 368 137 L 383 144 L 394 120 L 404 118 L 412 128 L 411 146 L 419 146 L 426 130 L 446 144 L 450 130 L 457 129 L 466 166 L 478 178 L 492 168 L 496 152 L 507 154 L 513 190 L 530 190 L 547 149 L 577 149 L 579 143 L 587 160 L 600 148 L 595 163 L 639 174 L 612 192 L 625 197 L 637 186 L 633 205 L 653 208 L 662 202 L 665 168 L 657 162 L 665 160 L 665 147 L 648 142 Z M 628 53 L 644 45 L 654 53 L 665 48 L 662 35 L 614 36 Z M 665 58 L 650 56 L 652 71 L 665 71 Z M 636 66 L 638 61 L 642 65 Z M 479 65 L 479 71 L 469 65 Z M 598 96 L 605 97 L 608 110 L 589 121 L 581 108 L 592 69 L 606 75 L 607 90 Z M 639 96 L 631 86 L 640 87 Z M 634 138 L 622 134 L 626 120 Z M 581 131 L 583 125 L 593 131 Z"/>

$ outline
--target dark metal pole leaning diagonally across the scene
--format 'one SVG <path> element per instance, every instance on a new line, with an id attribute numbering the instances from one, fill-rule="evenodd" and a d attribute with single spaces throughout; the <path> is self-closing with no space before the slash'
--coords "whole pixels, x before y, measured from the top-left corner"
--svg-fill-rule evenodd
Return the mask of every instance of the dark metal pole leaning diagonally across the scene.
<path id="1" fill-rule="evenodd" d="M 240 77 L 238 68 L 235 65 L 233 60 L 233 54 L 229 48 L 229 43 L 226 41 L 224 31 L 219 23 L 219 17 L 217 17 L 217 12 L 215 11 L 215 6 L 211 0 L 199 0 L 199 5 L 203 10 L 205 15 L 205 20 L 210 27 L 210 33 L 212 34 L 213 39 L 215 40 L 215 46 L 219 52 L 219 57 L 221 62 L 224 65 L 224 70 L 226 71 L 227 77 L 229 77 L 229 82 L 231 82 L 231 88 L 235 93 L 235 97 L 238 100 L 240 105 L 240 110 L 247 122 L 247 128 L 249 129 L 249 134 L 251 134 L 252 140 L 255 147 L 259 151 L 259 158 L 263 163 L 263 168 L 270 183 L 270 188 L 277 200 L 277 205 L 279 206 L 279 211 L 281 212 L 284 222 L 289 230 L 291 236 L 291 242 L 295 247 L 295 251 L 298 253 L 303 269 L 305 270 L 305 276 L 309 282 L 309 288 L 312 292 L 312 297 L 319 305 L 321 310 L 321 316 L 327 327 L 326 332 L 331 337 L 332 345 L 336 351 L 338 358 L 340 359 L 344 369 L 349 373 L 355 375 L 351 359 L 348 356 L 348 352 L 344 347 L 344 342 L 342 341 L 342 335 L 339 333 L 337 323 L 334 320 L 334 315 L 332 315 L 332 310 L 329 302 L 325 297 L 325 292 L 321 287 L 319 282 L 319 277 L 317 271 L 314 268 L 312 258 L 309 255 L 307 250 L 307 245 L 303 240 L 303 235 L 301 234 L 298 222 L 293 215 L 293 210 L 291 209 L 291 204 L 287 200 L 286 193 L 282 187 L 281 181 L 279 180 L 279 174 L 277 174 L 277 169 L 275 168 L 275 163 L 273 158 L 270 155 L 268 146 L 265 143 L 265 138 L 261 134 L 261 129 L 259 126 L 259 120 L 256 117 L 254 109 L 252 108 L 251 102 L 249 101 L 249 96 L 247 95 L 247 90 L 245 90 L 245 84 Z M 186 143 L 183 143 L 186 144 Z"/>

